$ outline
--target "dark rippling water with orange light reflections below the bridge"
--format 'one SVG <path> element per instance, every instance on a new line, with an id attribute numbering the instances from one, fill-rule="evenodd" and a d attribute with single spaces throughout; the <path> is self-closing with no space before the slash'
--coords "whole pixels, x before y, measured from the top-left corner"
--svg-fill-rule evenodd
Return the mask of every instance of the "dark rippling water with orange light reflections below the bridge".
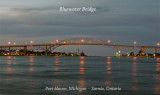
<path id="1" fill-rule="evenodd" d="M 0 95 L 160 95 L 160 58 L 0 56 Z"/>

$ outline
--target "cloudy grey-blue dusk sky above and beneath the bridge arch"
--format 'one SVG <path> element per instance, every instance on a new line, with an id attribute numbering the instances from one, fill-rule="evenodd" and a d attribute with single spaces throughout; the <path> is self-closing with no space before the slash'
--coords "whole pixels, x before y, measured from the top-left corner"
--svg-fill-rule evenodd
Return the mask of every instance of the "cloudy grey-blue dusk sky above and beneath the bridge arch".
<path id="1" fill-rule="evenodd" d="M 97 10 L 60 12 L 63 6 Z M 0 45 L 75 37 L 155 45 L 160 42 L 160 0 L 0 0 Z M 114 55 L 103 46 L 80 48 L 89 55 Z"/>

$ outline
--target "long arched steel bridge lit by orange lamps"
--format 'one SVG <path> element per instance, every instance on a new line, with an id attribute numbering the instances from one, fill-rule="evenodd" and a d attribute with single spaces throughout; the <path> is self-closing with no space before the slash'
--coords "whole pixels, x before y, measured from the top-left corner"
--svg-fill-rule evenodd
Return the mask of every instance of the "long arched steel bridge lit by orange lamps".
<path id="1" fill-rule="evenodd" d="M 54 42 L 50 43 L 44 43 L 44 44 L 22 44 L 22 45 L 1 45 L 0 51 L 15 51 L 15 50 L 23 50 L 24 54 L 28 51 L 34 51 L 34 50 L 41 50 L 45 51 L 46 55 L 48 55 L 49 52 L 53 52 L 54 49 L 60 47 L 60 46 L 66 46 L 66 45 L 100 45 L 100 46 L 107 46 L 112 48 L 114 51 L 151 51 L 158 53 L 160 52 L 159 46 L 145 46 L 145 45 L 127 45 L 127 44 L 120 44 L 120 43 L 113 43 L 110 40 L 99 40 L 99 39 L 93 39 L 93 38 L 72 38 L 72 39 L 66 39 L 66 40 L 56 40 Z"/>

